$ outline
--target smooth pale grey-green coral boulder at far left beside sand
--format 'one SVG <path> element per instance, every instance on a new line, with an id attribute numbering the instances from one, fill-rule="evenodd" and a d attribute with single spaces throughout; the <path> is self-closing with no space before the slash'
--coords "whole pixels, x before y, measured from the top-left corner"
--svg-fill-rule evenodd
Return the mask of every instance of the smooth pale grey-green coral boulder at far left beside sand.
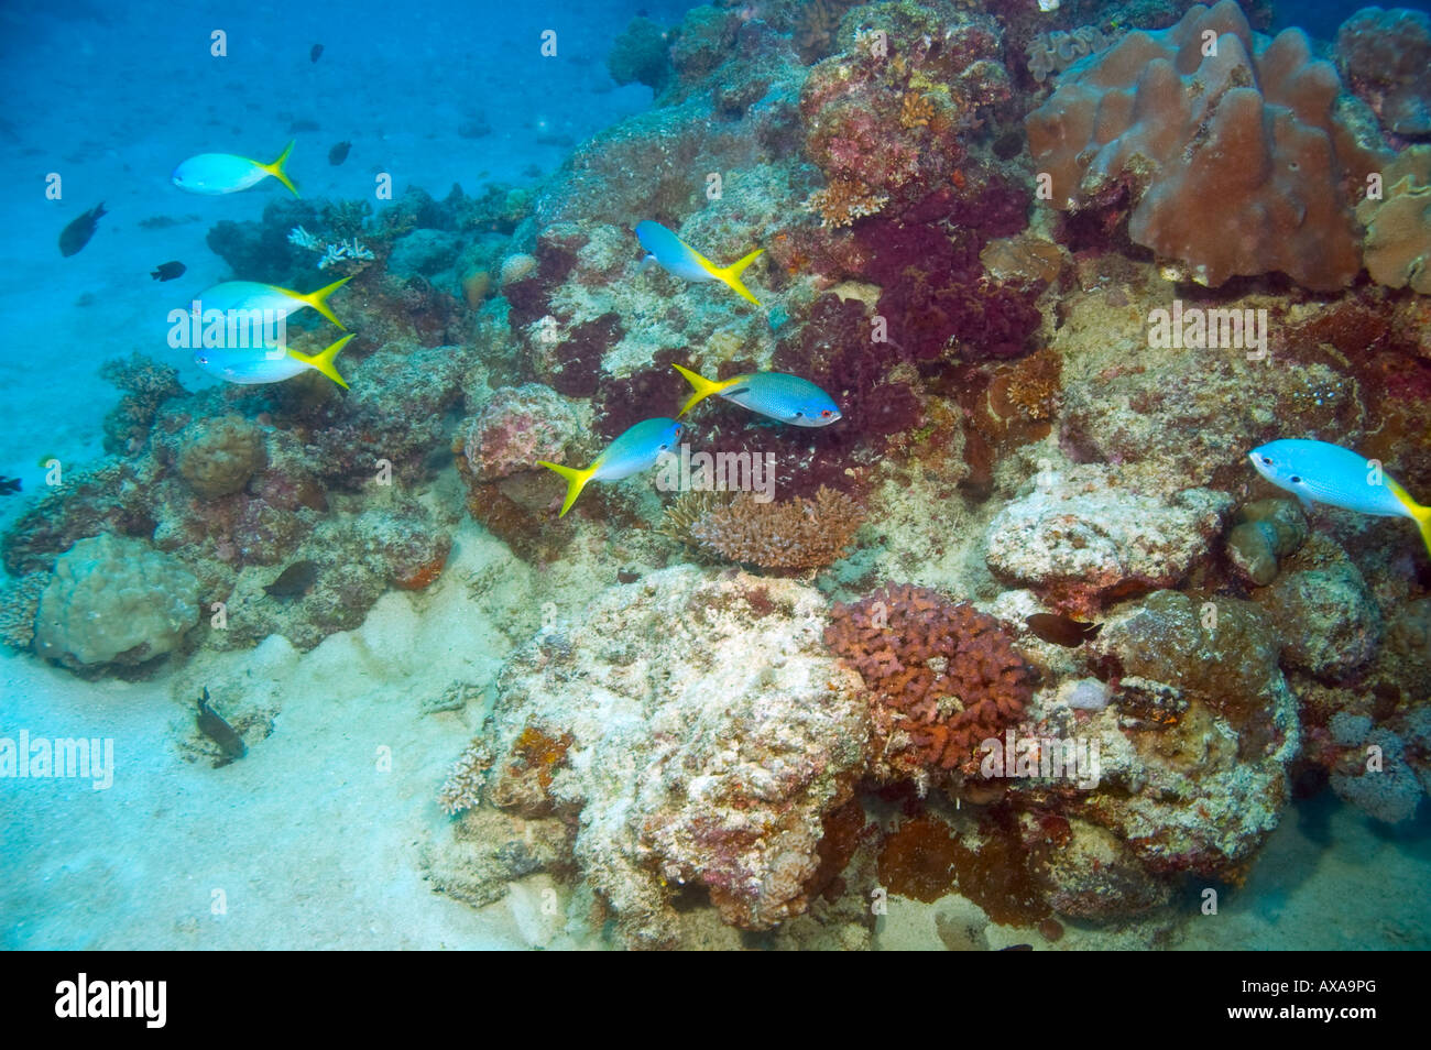
<path id="1" fill-rule="evenodd" d="M 173 558 L 110 534 L 54 564 L 34 647 L 67 667 L 142 664 L 172 652 L 197 619 L 199 581 Z"/>

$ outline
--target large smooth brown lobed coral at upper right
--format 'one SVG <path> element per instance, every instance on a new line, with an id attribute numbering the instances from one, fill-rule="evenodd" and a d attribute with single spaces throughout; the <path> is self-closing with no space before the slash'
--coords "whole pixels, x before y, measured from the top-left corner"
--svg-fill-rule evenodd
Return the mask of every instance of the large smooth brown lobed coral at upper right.
<path id="1" fill-rule="evenodd" d="M 1361 269 L 1348 179 L 1374 166 L 1334 116 L 1337 69 L 1307 34 L 1254 34 L 1232 0 L 1195 4 L 1070 69 L 1029 114 L 1055 206 L 1112 203 L 1132 240 L 1216 286 L 1272 270 L 1317 289 Z"/>

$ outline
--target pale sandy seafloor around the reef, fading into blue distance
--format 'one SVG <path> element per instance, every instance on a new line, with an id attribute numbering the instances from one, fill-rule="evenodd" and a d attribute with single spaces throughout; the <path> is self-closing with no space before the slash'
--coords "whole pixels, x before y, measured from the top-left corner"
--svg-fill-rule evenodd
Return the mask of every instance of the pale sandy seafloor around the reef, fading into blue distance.
<path id="1" fill-rule="evenodd" d="M 442 13 L 438 14 L 441 7 Z M 193 388 L 206 382 L 163 342 L 165 313 L 228 276 L 203 243 L 220 219 L 258 219 L 268 192 L 192 197 L 169 185 L 203 150 L 276 154 L 298 119 L 292 170 L 306 196 L 358 196 L 373 172 L 395 189 L 445 196 L 454 182 L 522 182 L 550 172 L 574 140 L 644 107 L 650 92 L 615 89 L 604 57 L 628 4 L 512 6 L 498 23 L 446 6 L 406 3 L 185 6 L 6 4 L 0 10 L 0 474 L 34 489 L 37 461 L 100 453 L 117 392 L 99 365 L 130 352 L 163 358 Z M 644 4 L 675 20 L 680 3 Z M 431 9 L 431 10 L 429 10 Z M 562 57 L 537 66 L 534 34 L 552 23 Z M 275 27 L 282 27 L 275 30 Z M 153 27 L 162 31 L 150 31 Z M 207 56 L 225 27 L 230 57 Z M 193 53 L 175 50 L 192 37 Z M 375 39 L 382 49 L 373 50 Z M 318 63 L 309 46 L 325 44 Z M 485 114 L 492 134 L 456 127 Z M 342 167 L 328 147 L 353 142 Z M 60 172 L 64 196 L 43 196 Z M 276 189 L 276 187 L 275 187 Z M 269 190 L 272 192 L 272 190 Z M 282 192 L 282 190 L 278 190 Z M 59 230 L 104 200 L 110 215 L 77 256 Z M 166 215 L 177 225 L 145 229 Z M 149 270 L 185 262 L 179 280 Z M 167 358 L 165 358 L 167 359 Z M 451 481 L 451 479 L 449 479 Z M 20 509 L 0 501 L 0 525 Z M 509 649 L 494 617 L 521 601 L 512 582 L 469 581 L 509 555 L 481 528 L 458 532 L 442 578 L 419 595 L 388 594 L 353 632 L 299 655 L 282 638 L 256 652 L 202 654 L 143 682 L 84 682 L 33 657 L 0 657 L 0 735 L 113 737 L 107 791 L 83 781 L 0 782 L 0 947 L 4 948 L 474 948 L 594 947 L 544 914 L 545 875 L 472 910 L 431 891 L 421 845 L 446 817 L 434 795 L 482 711 L 421 715 L 419 700 L 454 679 L 495 674 Z M 176 727 L 192 720 L 195 684 L 273 691 L 273 734 L 226 768 L 185 761 Z M 180 702 L 179 694 L 185 698 Z M 391 750 L 391 771 L 379 752 Z M 1246 885 L 1216 917 L 1189 916 L 1168 947 L 1431 947 L 1431 817 L 1388 830 L 1329 794 L 1292 807 Z M 558 893 L 564 893 L 558 888 Z M 213 914 L 216 894 L 226 904 Z M 893 898 L 881 948 L 940 947 L 934 916 L 956 907 Z M 1023 940 L 990 927 L 992 947 Z M 1000 940 L 1003 938 L 1003 940 Z M 1143 947 L 1139 927 L 1068 927 L 1056 947 Z M 1043 947 L 1040 943 L 1039 947 Z"/>

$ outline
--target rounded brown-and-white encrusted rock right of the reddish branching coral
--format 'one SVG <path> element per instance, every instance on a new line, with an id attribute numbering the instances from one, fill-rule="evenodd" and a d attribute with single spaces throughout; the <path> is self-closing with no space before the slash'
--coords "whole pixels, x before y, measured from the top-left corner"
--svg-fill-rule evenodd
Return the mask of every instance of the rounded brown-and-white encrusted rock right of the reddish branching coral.
<path id="1" fill-rule="evenodd" d="M 1135 718 L 1119 695 L 1085 722 L 1102 782 L 1069 798 L 1069 815 L 1110 830 L 1153 874 L 1239 880 L 1281 818 L 1301 732 L 1265 617 L 1159 591 L 1115 609 L 1092 645 L 1123 681 L 1186 705 Z"/>

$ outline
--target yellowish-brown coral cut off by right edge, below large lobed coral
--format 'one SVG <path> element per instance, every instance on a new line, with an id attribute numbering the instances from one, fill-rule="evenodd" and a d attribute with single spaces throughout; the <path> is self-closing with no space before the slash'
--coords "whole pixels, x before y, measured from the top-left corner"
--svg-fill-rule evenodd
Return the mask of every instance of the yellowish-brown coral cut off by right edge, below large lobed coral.
<path id="1" fill-rule="evenodd" d="M 1378 285 L 1431 295 L 1431 146 L 1412 146 L 1382 172 L 1382 197 L 1357 205 L 1367 272 Z"/>

